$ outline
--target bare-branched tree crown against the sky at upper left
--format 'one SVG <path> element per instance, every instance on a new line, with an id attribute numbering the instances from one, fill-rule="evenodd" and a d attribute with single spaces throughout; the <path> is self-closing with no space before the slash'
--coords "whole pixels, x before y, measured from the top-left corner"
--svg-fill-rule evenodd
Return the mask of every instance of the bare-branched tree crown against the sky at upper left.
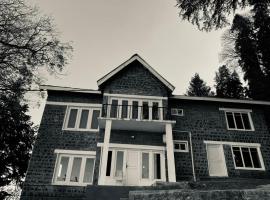
<path id="1" fill-rule="evenodd" d="M 50 17 L 40 16 L 22 0 L 0 2 L 0 88 L 10 88 L 18 79 L 29 86 L 41 66 L 61 71 L 71 50 L 57 38 Z"/>

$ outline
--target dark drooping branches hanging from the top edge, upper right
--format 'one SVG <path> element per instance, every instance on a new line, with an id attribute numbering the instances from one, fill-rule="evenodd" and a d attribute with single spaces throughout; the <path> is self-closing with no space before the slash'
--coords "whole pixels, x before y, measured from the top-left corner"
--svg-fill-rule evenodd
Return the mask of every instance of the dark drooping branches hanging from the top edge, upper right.
<path id="1" fill-rule="evenodd" d="M 210 31 L 229 24 L 229 17 L 239 9 L 261 10 L 269 0 L 177 0 L 180 17 L 198 26 L 200 30 Z"/>

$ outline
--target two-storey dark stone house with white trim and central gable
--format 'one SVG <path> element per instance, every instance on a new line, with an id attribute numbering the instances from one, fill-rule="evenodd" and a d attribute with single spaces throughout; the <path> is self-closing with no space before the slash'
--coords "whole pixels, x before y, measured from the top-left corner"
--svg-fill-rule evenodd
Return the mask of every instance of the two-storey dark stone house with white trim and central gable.
<path id="1" fill-rule="evenodd" d="M 97 84 L 41 86 L 48 97 L 21 199 L 81 199 L 97 185 L 270 178 L 270 102 L 173 95 L 137 54 Z"/>

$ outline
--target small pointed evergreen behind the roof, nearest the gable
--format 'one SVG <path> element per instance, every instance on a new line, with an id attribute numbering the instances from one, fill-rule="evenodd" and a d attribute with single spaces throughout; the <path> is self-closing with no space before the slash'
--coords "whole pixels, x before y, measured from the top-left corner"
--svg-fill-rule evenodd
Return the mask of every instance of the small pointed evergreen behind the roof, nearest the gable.
<path id="1" fill-rule="evenodd" d="M 206 85 L 206 82 L 204 82 L 198 73 L 195 73 L 195 75 L 191 78 L 191 81 L 189 82 L 189 87 L 186 92 L 186 95 L 188 96 L 211 96 L 211 88 Z"/>

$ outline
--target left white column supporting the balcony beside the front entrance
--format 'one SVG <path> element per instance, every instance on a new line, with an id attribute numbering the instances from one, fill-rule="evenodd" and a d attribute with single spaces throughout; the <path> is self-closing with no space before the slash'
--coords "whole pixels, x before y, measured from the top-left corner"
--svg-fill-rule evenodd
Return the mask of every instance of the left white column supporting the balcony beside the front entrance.
<path id="1" fill-rule="evenodd" d="M 112 120 L 106 120 L 105 133 L 104 133 L 104 143 L 103 143 L 103 150 L 102 150 L 102 155 L 101 155 L 101 158 L 102 158 L 101 170 L 100 170 L 100 177 L 99 177 L 99 181 L 98 181 L 99 185 L 105 184 L 111 127 L 112 127 Z"/>

